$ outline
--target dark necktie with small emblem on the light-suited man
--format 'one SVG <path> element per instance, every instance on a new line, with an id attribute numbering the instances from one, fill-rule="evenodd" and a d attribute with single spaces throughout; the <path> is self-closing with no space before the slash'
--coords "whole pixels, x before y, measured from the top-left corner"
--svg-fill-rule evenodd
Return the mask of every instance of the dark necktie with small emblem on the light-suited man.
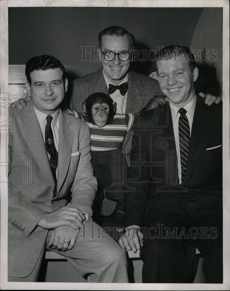
<path id="1" fill-rule="evenodd" d="M 56 170 L 58 166 L 58 152 L 55 148 L 54 135 L 51 128 L 51 121 L 53 117 L 51 115 L 47 115 L 46 119 L 47 119 L 47 124 L 45 128 L 45 145 L 46 145 L 46 150 L 50 155 L 49 164 L 50 164 L 50 168 L 54 177 L 54 182 L 55 182 L 54 195 L 56 196 L 56 193 L 57 193 Z"/>

